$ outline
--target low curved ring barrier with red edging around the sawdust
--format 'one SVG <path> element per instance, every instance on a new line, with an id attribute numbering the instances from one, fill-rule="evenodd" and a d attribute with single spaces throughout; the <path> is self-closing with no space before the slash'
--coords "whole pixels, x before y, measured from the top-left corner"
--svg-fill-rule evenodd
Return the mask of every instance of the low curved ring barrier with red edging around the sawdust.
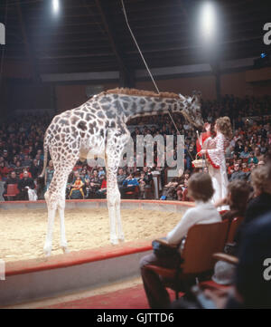
<path id="1" fill-rule="evenodd" d="M 121 209 L 141 209 L 178 213 L 180 216 L 191 202 L 159 200 L 122 200 Z M 0 202 L 0 208 L 11 210 L 44 209 L 44 201 Z M 66 208 L 107 208 L 106 200 L 67 200 Z M 5 217 L 1 217 L 3 219 Z M 139 260 L 152 251 L 151 239 L 119 245 L 71 251 L 49 258 L 9 261 L 5 263 L 5 280 L 0 280 L 0 307 L 30 302 L 95 288 L 139 276 Z M 0 254 L 1 259 L 1 254 Z M 124 269 L 125 267 L 125 269 Z"/>

